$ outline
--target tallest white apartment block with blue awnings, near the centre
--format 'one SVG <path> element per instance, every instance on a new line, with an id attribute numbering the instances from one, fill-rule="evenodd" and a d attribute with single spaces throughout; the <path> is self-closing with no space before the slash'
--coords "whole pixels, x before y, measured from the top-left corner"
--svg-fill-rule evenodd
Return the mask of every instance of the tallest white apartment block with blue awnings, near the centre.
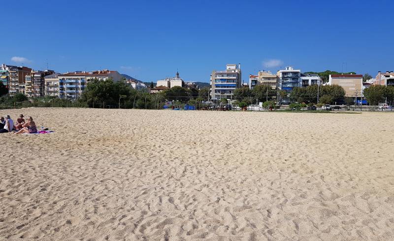
<path id="1" fill-rule="evenodd" d="M 234 90 L 242 87 L 241 64 L 226 64 L 224 71 L 212 71 L 211 98 L 233 99 Z"/>

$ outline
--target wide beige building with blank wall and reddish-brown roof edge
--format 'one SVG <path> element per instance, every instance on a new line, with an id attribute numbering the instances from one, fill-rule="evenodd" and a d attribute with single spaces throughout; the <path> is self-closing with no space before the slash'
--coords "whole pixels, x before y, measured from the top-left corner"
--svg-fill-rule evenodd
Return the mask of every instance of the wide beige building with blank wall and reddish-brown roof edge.
<path id="1" fill-rule="evenodd" d="M 345 90 L 345 96 L 361 96 L 362 74 L 330 74 L 328 85 L 338 85 Z"/>

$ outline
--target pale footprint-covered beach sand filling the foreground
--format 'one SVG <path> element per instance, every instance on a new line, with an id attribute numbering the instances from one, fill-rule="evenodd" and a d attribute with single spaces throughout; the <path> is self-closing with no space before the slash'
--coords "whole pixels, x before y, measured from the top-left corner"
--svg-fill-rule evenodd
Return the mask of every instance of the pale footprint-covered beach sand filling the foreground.
<path id="1" fill-rule="evenodd" d="M 394 238 L 394 113 L 0 112 L 0 239 Z"/>

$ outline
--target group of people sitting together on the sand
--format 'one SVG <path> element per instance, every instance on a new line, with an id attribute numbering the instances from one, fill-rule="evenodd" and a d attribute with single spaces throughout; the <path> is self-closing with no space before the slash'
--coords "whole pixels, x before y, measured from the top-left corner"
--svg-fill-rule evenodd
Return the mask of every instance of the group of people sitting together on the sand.
<path id="1" fill-rule="evenodd" d="M 15 131 L 15 134 L 37 133 L 37 127 L 31 116 L 25 121 L 24 116 L 21 114 L 19 118 L 14 122 L 9 115 L 0 117 L 0 133 L 7 133 Z"/>

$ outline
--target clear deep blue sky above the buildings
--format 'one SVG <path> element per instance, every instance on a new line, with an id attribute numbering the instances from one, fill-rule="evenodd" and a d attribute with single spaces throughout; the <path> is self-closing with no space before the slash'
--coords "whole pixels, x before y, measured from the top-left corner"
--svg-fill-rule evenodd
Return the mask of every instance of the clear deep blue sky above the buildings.
<path id="1" fill-rule="evenodd" d="M 67 0 L 1 3 L 0 62 L 113 69 L 144 81 L 209 82 L 213 69 L 394 70 L 390 0 Z M 19 7 L 22 6 L 22 7 Z M 10 10 L 4 10 L 10 9 Z"/>

